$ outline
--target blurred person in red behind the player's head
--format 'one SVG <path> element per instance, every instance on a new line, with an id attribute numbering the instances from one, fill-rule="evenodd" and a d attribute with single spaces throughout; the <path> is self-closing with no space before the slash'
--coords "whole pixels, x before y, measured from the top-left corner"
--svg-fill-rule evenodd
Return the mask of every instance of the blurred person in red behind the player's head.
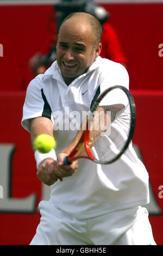
<path id="1" fill-rule="evenodd" d="M 118 35 L 109 23 L 110 14 L 103 7 L 99 7 L 92 0 L 62 0 L 54 5 L 54 13 L 57 17 L 56 33 L 46 39 L 46 45 L 41 52 L 37 52 L 30 60 L 29 66 L 33 74 L 43 74 L 56 60 L 57 34 L 62 20 L 71 13 L 84 12 L 95 16 L 102 24 L 102 58 L 108 58 L 114 62 L 126 66 L 126 57 L 123 54 Z"/>

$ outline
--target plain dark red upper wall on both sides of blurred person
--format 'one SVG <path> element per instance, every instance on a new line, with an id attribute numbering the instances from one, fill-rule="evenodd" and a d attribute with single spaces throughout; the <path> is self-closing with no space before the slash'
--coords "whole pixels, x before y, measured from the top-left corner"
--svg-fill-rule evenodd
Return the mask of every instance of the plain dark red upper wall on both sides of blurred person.
<path id="1" fill-rule="evenodd" d="M 163 4 L 103 4 L 127 58 L 131 89 L 162 89 Z M 33 78 L 29 58 L 54 33 L 52 5 L 0 5 L 1 90 L 23 90 Z"/>

